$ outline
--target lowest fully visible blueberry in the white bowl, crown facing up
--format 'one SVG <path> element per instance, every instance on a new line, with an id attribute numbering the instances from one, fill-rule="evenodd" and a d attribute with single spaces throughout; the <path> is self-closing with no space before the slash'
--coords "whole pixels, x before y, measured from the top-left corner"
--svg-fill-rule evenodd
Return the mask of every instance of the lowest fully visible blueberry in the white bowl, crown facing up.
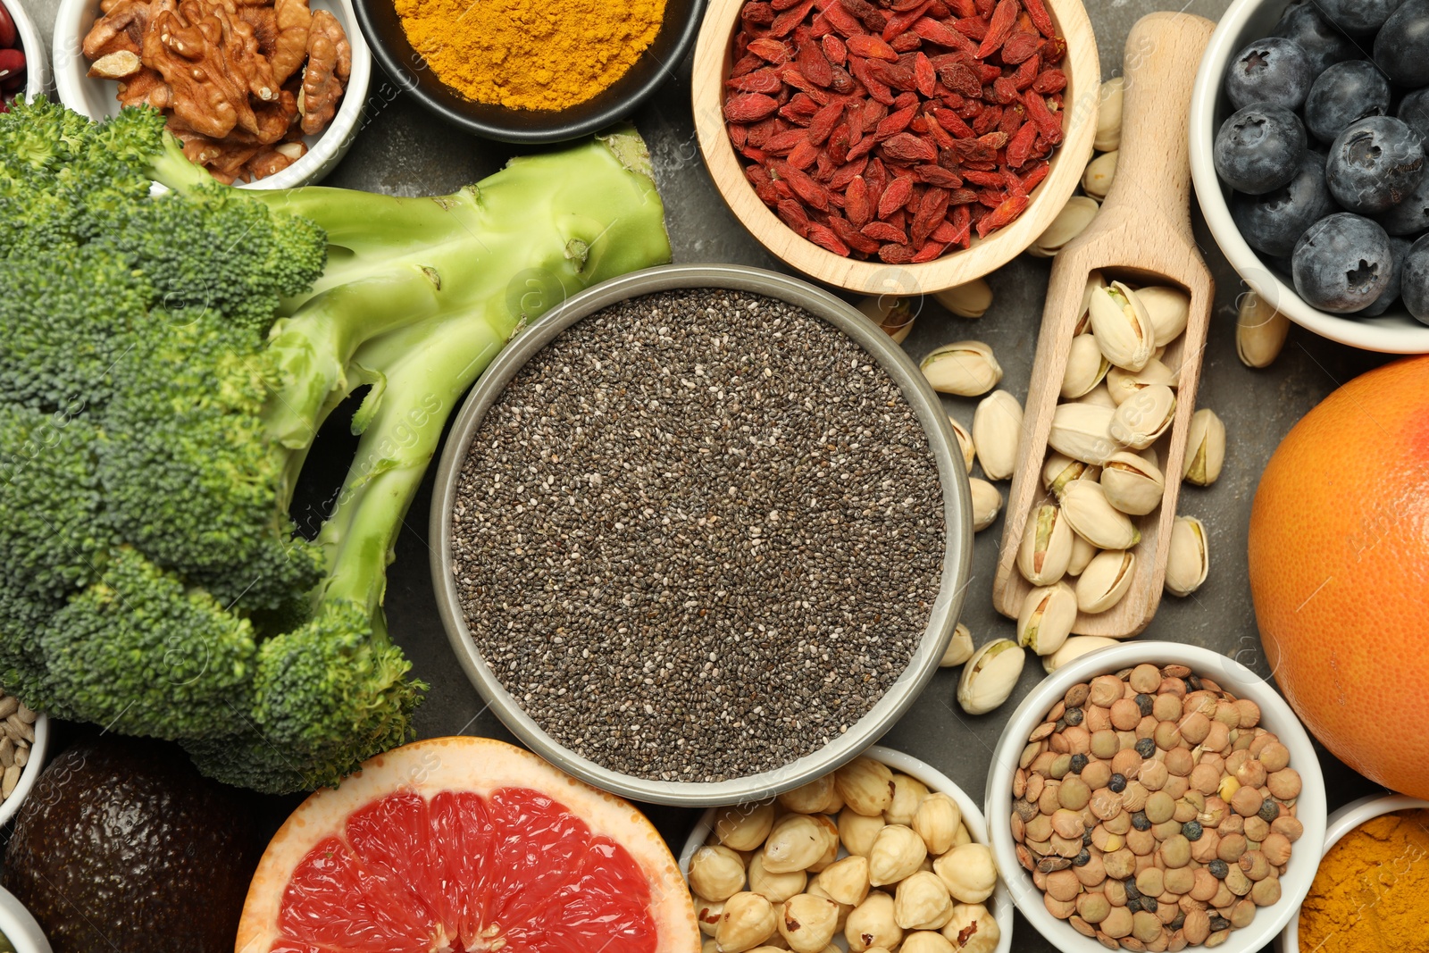
<path id="1" fill-rule="evenodd" d="M 1389 236 L 1378 223 L 1340 211 L 1300 236 L 1295 246 L 1295 290 L 1312 307 L 1350 314 L 1383 294 L 1392 261 Z"/>

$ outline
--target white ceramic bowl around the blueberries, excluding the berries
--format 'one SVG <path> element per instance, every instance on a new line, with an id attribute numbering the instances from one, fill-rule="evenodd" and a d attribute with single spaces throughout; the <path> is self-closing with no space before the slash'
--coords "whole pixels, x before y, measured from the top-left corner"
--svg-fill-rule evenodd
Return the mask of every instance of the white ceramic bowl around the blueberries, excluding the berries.
<path id="1" fill-rule="evenodd" d="M 1230 219 L 1230 190 L 1216 176 L 1212 146 L 1220 123 L 1235 110 L 1220 91 L 1230 57 L 1275 27 L 1289 0 L 1235 0 L 1220 17 L 1210 46 L 1200 60 L 1190 97 L 1190 174 L 1196 197 L 1216 244 L 1246 284 L 1296 324 L 1340 344 L 1389 354 L 1429 353 L 1429 326 L 1416 321 L 1402 304 L 1383 317 L 1346 317 L 1308 304 L 1288 277 L 1275 273 L 1260 254 L 1246 244 Z"/>

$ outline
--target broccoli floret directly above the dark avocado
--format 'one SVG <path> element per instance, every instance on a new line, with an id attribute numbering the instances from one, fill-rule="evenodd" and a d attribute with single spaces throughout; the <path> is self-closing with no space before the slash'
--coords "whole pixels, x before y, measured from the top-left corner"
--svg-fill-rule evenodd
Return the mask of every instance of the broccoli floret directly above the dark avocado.
<path id="1" fill-rule="evenodd" d="M 120 547 L 40 636 L 50 710 L 163 739 L 236 732 L 256 646 L 247 619 Z"/>

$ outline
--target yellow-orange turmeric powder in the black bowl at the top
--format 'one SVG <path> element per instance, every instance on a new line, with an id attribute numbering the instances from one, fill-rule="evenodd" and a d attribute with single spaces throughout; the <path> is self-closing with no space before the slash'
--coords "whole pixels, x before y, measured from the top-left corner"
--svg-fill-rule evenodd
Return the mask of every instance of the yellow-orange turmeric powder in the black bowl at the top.
<path id="1" fill-rule="evenodd" d="M 407 41 L 479 103 L 560 110 L 619 80 L 654 41 L 664 0 L 396 0 Z"/>

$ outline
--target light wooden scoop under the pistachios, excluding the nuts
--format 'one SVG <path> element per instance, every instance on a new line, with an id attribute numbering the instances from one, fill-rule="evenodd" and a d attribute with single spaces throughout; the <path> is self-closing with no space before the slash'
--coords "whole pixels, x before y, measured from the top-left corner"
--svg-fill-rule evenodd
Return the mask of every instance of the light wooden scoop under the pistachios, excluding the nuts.
<path id="1" fill-rule="evenodd" d="M 1126 39 L 1126 93 L 1116 179 L 1092 224 L 1057 253 L 1042 313 L 1020 460 L 1007 499 L 1002 557 L 993 583 L 993 603 L 1005 616 L 1016 619 L 1023 597 L 1033 589 L 1017 572 L 1017 549 L 1033 509 L 1055 502 L 1042 489 L 1042 464 L 1082 311 L 1082 294 L 1093 270 L 1100 270 L 1107 281 L 1122 280 L 1133 287 L 1167 284 L 1190 294 L 1186 331 L 1162 357 L 1167 367 L 1179 367 L 1176 419 L 1170 431 L 1155 444 L 1166 474 L 1165 497 L 1149 516 L 1133 517 L 1142 542 L 1133 550 L 1136 570 L 1126 596 L 1105 613 L 1080 613 L 1073 632 L 1125 639 L 1142 632 L 1156 614 L 1215 291 L 1190 231 L 1186 134 L 1192 80 L 1213 30 L 1215 24 L 1203 17 L 1152 13 L 1142 17 Z M 1076 580 L 1066 582 L 1075 584 Z"/>

